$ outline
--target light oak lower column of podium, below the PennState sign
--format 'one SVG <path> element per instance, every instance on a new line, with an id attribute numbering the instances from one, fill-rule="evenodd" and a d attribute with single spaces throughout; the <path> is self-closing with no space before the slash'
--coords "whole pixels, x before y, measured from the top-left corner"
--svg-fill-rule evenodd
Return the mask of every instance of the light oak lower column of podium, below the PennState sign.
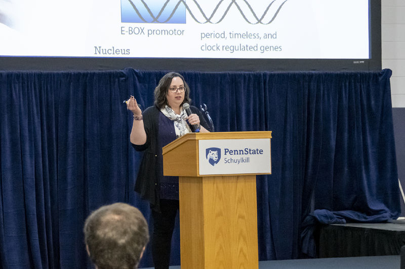
<path id="1" fill-rule="evenodd" d="M 181 268 L 258 268 L 256 176 L 180 177 Z"/>

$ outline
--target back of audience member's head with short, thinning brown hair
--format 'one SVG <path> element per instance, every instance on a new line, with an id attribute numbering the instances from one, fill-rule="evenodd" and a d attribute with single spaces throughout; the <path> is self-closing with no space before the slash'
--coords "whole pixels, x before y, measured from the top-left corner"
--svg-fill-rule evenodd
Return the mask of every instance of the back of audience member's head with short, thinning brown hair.
<path id="1" fill-rule="evenodd" d="M 149 241 L 141 211 L 126 203 L 105 205 L 91 213 L 84 233 L 90 258 L 98 269 L 138 268 Z"/>

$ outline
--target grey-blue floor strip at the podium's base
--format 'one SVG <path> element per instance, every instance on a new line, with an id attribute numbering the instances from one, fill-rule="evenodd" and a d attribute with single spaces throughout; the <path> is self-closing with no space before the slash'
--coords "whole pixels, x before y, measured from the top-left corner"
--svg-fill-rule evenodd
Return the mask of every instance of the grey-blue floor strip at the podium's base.
<path id="1" fill-rule="evenodd" d="M 152 269 L 153 267 L 145 268 Z M 259 261 L 259 269 L 399 269 L 400 255 Z M 170 266 L 180 269 L 180 266 Z"/>

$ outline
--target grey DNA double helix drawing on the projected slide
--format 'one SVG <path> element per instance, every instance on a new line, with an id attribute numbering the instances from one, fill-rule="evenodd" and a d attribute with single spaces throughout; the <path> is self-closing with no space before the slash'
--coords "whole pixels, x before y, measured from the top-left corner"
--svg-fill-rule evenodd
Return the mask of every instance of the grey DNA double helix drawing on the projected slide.
<path id="1" fill-rule="evenodd" d="M 228 14 L 229 10 L 231 7 L 235 6 L 236 9 L 239 11 L 240 15 L 245 19 L 246 22 L 249 24 L 270 24 L 274 21 L 276 18 L 277 14 L 281 10 L 282 6 L 288 1 L 288 0 L 273 0 L 271 1 L 267 7 L 265 8 L 263 14 L 261 16 L 258 16 L 255 11 L 253 10 L 252 6 L 249 4 L 247 0 L 221 0 L 218 2 L 217 6 L 211 13 L 211 15 L 207 15 L 201 6 L 198 4 L 196 0 L 188 0 L 189 5 L 186 4 L 185 0 L 167 0 L 161 9 L 159 10 L 158 14 L 155 16 L 153 12 L 151 11 L 150 7 L 144 0 L 140 0 L 135 4 L 136 0 L 123 0 L 123 1 L 128 1 L 129 4 L 131 5 L 132 9 L 131 12 L 135 12 L 137 17 L 140 19 L 139 22 L 144 22 L 144 23 L 168 23 L 171 21 L 171 19 L 175 16 L 176 12 L 180 10 L 186 10 L 191 18 L 194 19 L 197 23 L 200 24 L 205 24 L 205 23 L 211 23 L 211 24 L 218 24 L 220 23 Z M 177 1 L 177 3 L 175 2 Z M 206 1 L 206 0 L 202 0 Z M 278 6 L 276 6 L 278 5 Z M 273 6 L 273 14 L 268 14 L 270 8 Z M 173 10 L 167 10 L 172 8 Z M 274 8 L 275 7 L 275 8 Z M 141 10 L 143 12 L 141 12 Z M 224 11 L 222 15 L 217 14 L 219 11 Z M 193 14 L 195 12 L 199 12 L 203 19 L 197 19 L 197 14 Z M 250 16 L 247 16 L 245 13 L 250 12 Z M 142 14 L 143 13 L 143 14 Z M 182 12 L 183 13 L 183 12 Z M 164 15 L 165 14 L 165 15 Z M 135 15 L 135 14 L 133 14 Z M 199 17 L 201 17 L 199 16 Z M 248 18 L 248 17 L 252 17 Z M 214 20 L 214 18 L 217 18 Z M 267 18 L 266 21 L 264 19 Z M 123 21 L 124 22 L 124 21 Z M 129 22 L 129 21 L 125 21 Z M 185 14 L 184 14 L 184 22 L 185 23 Z"/>

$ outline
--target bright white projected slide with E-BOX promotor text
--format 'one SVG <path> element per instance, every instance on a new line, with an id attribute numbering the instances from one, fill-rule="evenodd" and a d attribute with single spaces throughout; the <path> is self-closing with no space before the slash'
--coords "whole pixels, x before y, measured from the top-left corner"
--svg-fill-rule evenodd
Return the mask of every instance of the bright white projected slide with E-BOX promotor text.
<path id="1" fill-rule="evenodd" d="M 369 0 L 0 0 L 0 56 L 370 59 Z"/>

